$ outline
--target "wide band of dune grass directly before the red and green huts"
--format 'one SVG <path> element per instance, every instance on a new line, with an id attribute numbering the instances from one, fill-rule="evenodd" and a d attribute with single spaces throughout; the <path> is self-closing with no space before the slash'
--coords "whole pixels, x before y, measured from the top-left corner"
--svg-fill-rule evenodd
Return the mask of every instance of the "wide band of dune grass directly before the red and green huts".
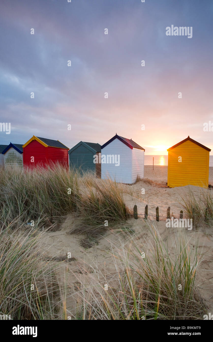
<path id="1" fill-rule="evenodd" d="M 70 213 L 86 226 L 103 228 L 105 220 L 125 221 L 131 211 L 115 182 L 96 180 L 92 173 L 59 165 L 0 170 L 1 227 L 12 227 L 16 218 L 15 226 L 31 221 L 44 228 L 57 226 Z"/>

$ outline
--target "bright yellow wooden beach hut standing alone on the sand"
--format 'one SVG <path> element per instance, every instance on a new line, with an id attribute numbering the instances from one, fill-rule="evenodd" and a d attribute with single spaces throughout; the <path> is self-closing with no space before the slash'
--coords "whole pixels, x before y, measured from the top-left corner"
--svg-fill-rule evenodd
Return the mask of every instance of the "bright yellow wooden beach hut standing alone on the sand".
<path id="1" fill-rule="evenodd" d="M 210 148 L 188 136 L 167 151 L 170 188 L 189 184 L 208 188 Z"/>

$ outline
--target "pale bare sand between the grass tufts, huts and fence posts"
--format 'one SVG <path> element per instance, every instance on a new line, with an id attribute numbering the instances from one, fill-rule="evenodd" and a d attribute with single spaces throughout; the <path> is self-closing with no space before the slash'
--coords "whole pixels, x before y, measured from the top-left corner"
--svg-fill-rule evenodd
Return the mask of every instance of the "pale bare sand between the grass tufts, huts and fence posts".
<path id="1" fill-rule="evenodd" d="M 212 181 L 212 169 L 210 170 L 210 181 Z M 97 180 L 98 181 L 98 180 Z M 120 185 L 123 191 L 125 203 L 128 207 L 133 208 L 136 204 L 138 208 L 138 219 L 131 218 L 127 224 L 134 231 L 133 236 L 125 235 L 122 231 L 109 226 L 109 233 L 106 234 L 99 244 L 85 250 L 80 239 L 83 235 L 70 234 L 70 230 L 75 226 L 77 220 L 71 215 L 67 217 L 63 223 L 61 230 L 57 232 L 45 233 L 45 239 L 42 241 L 41 250 L 44 254 L 50 256 L 66 255 L 71 252 L 76 261 L 72 261 L 67 265 L 68 283 L 70 296 L 67 301 L 67 314 L 75 312 L 76 303 L 80 303 L 79 293 L 81 292 L 81 284 L 88 284 L 88 300 L 90 298 L 89 288 L 91 284 L 105 284 L 110 279 L 113 285 L 115 269 L 114 255 L 112 247 L 122 250 L 123 246 L 129 248 L 132 239 L 137 240 L 138 246 L 144 248 L 147 253 L 151 254 L 152 250 L 148 247 L 150 239 L 147 223 L 143 219 L 144 208 L 148 204 L 148 215 L 159 232 L 163 242 L 166 244 L 170 252 L 175 255 L 175 239 L 179 234 L 179 229 L 184 229 L 182 234 L 186 234 L 186 238 L 190 241 L 190 248 L 197 246 L 199 268 L 197 271 L 196 285 L 200 291 L 202 298 L 207 303 L 209 310 L 213 311 L 212 298 L 212 267 L 213 267 L 213 236 L 212 229 L 209 227 L 199 227 L 187 231 L 185 228 L 166 228 L 165 216 L 167 208 L 171 207 L 171 213 L 179 215 L 182 209 L 182 198 L 186 198 L 188 193 L 193 192 L 194 196 L 199 199 L 202 191 L 210 189 L 202 189 L 196 186 L 185 186 L 168 188 L 167 182 L 167 166 L 145 166 L 145 179 L 130 186 Z M 145 189 L 145 194 L 141 194 L 141 189 Z M 160 221 L 156 222 L 156 207 L 159 206 Z M 121 252 L 122 253 L 122 252 Z M 79 267 L 81 271 L 79 272 Z M 101 272 L 101 273 L 100 273 Z M 78 302 L 79 301 L 79 302 Z"/>

